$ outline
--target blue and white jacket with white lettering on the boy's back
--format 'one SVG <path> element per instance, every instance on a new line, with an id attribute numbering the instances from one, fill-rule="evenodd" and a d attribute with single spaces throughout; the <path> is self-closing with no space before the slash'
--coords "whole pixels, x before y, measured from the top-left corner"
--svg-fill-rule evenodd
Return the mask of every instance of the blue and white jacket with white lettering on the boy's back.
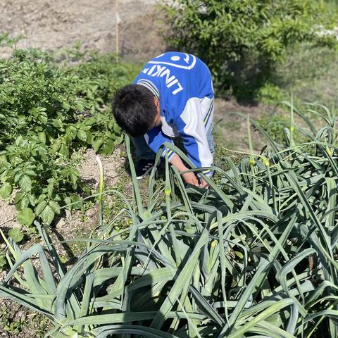
<path id="1" fill-rule="evenodd" d="M 155 153 L 173 137 L 183 139 L 187 156 L 197 168 L 213 164 L 206 130 L 213 119 L 213 84 L 208 67 L 192 54 L 168 52 L 146 63 L 134 80 L 159 99 L 160 127 L 144 135 Z M 174 155 L 168 151 L 169 159 Z M 204 173 L 208 175 L 210 170 Z"/>

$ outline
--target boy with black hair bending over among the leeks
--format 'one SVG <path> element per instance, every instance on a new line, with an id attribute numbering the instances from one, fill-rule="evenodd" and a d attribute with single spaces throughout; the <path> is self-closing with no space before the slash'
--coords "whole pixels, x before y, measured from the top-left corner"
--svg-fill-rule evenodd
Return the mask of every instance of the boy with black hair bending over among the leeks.
<path id="1" fill-rule="evenodd" d="M 158 149 L 178 136 L 197 168 L 213 165 L 213 84 L 208 67 L 196 56 L 168 52 L 153 58 L 134 84 L 116 92 L 113 115 L 132 137 L 139 157 L 137 178 L 154 167 Z M 177 170 L 188 170 L 180 156 L 163 149 L 164 157 L 165 152 Z M 211 176 L 212 170 L 203 173 Z M 182 177 L 189 184 L 206 187 L 206 182 L 194 173 Z"/>

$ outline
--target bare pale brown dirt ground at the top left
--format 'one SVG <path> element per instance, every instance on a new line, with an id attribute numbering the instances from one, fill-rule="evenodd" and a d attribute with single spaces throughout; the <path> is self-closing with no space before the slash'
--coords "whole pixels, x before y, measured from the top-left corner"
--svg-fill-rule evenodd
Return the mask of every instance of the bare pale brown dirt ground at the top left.
<path id="1" fill-rule="evenodd" d="M 156 0 L 1 0 L 0 32 L 23 35 L 20 48 L 58 49 L 80 42 L 84 48 L 114 53 L 118 35 L 122 56 L 146 60 L 164 48 L 155 4 Z"/>

